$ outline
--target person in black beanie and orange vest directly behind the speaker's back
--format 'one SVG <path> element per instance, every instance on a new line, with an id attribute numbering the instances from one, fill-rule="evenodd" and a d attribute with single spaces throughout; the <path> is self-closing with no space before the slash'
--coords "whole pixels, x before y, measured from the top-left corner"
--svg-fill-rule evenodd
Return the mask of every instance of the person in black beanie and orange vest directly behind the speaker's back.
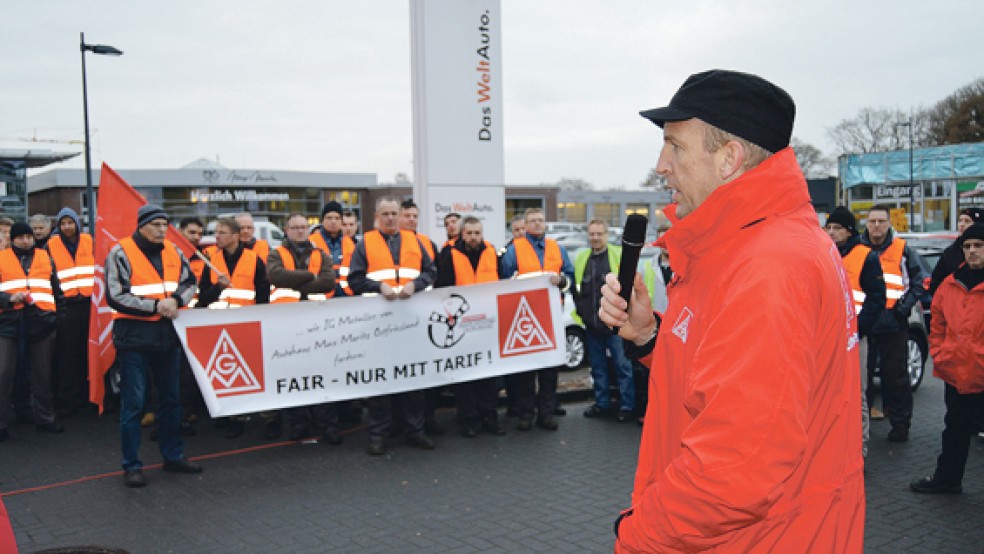
<path id="1" fill-rule="evenodd" d="M 858 360 L 861 363 L 861 454 L 868 455 L 871 414 L 868 412 L 868 334 L 885 308 L 885 277 L 878 254 L 861 244 L 857 219 L 851 210 L 837 206 L 824 226 L 830 240 L 837 245 L 847 282 L 851 285 L 854 311 L 858 318 Z"/>

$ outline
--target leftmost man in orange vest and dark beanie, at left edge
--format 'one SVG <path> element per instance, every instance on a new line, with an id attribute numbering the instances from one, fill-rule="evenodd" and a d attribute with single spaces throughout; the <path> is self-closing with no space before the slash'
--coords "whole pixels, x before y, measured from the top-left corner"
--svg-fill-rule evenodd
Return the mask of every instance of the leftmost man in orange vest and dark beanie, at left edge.
<path id="1" fill-rule="evenodd" d="M 10 402 L 17 372 L 18 340 L 27 343 L 31 404 L 38 431 L 62 433 L 51 394 L 55 306 L 61 296 L 48 253 L 34 244 L 27 223 L 10 229 L 10 248 L 0 252 L 0 441 L 9 436 Z"/>

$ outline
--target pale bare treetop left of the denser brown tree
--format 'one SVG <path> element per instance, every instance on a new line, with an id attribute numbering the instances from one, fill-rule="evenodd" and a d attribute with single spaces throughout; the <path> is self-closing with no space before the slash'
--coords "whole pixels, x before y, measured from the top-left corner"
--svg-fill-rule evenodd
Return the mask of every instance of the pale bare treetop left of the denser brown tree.
<path id="1" fill-rule="evenodd" d="M 839 154 L 858 154 L 903 150 L 909 147 L 912 125 L 913 146 L 926 146 L 929 137 L 929 116 L 925 110 L 913 108 L 863 108 L 858 115 L 844 119 L 827 129 Z"/>

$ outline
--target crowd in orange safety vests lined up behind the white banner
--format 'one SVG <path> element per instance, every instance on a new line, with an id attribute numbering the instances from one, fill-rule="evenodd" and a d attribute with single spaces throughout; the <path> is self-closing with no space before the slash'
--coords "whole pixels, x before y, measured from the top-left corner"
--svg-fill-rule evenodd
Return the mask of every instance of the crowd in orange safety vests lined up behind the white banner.
<path id="1" fill-rule="evenodd" d="M 215 242 L 209 246 L 202 244 L 203 222 L 189 217 L 176 225 L 196 249 L 186 257 L 166 239 L 175 223 L 170 216 L 154 204 L 141 207 L 132 235 L 120 239 L 105 261 L 125 483 L 146 484 L 140 457 L 142 427 L 152 427 L 151 438 L 158 442 L 165 470 L 201 471 L 184 456 L 185 438 L 196 434 L 196 423 L 206 414 L 170 323 L 182 310 L 290 302 L 325 302 L 330 307 L 332 299 L 358 295 L 399 301 L 434 287 L 539 274 L 550 275 L 558 294 L 576 295 L 575 264 L 556 241 L 545 237 L 542 210 L 516 217 L 511 222 L 513 237 L 501 250 L 485 240 L 482 222 L 475 217 L 448 214 L 448 240 L 440 247 L 417 232 L 418 218 L 412 200 L 380 198 L 372 229 L 360 240 L 358 219 L 332 201 L 325 204 L 313 229 L 307 214 L 291 214 L 285 240 L 271 248 L 254 237 L 249 213 L 218 219 Z M 32 217 L 30 225 L 0 220 L 0 441 L 9 437 L 14 420 L 62 433 L 62 421 L 90 406 L 86 351 L 95 278 L 93 242 L 80 232 L 78 215 L 71 209 L 63 209 L 54 222 L 52 231 L 46 216 Z M 579 264 L 582 271 L 584 264 Z M 598 273 L 592 270 L 581 285 L 595 286 L 589 303 L 597 312 Z M 608 335 L 602 348 L 612 343 Z M 517 430 L 558 428 L 556 416 L 565 411 L 557 401 L 557 379 L 557 367 L 505 377 L 507 413 L 516 418 Z M 453 387 L 463 436 L 505 434 L 497 408 L 498 383 L 483 379 Z M 602 398 L 607 395 L 599 396 L 607 410 Z M 317 436 L 337 445 L 342 442 L 342 422 L 365 416 L 369 454 L 384 454 L 389 439 L 399 434 L 410 445 L 429 450 L 435 447 L 431 437 L 445 432 L 434 415 L 439 401 L 440 391 L 428 389 L 233 416 L 215 424 L 229 438 L 241 436 L 249 421 L 260 421 L 263 436 L 270 440 L 280 438 L 286 427 L 291 440 Z M 624 389 L 622 408 L 632 410 L 631 392 Z"/>

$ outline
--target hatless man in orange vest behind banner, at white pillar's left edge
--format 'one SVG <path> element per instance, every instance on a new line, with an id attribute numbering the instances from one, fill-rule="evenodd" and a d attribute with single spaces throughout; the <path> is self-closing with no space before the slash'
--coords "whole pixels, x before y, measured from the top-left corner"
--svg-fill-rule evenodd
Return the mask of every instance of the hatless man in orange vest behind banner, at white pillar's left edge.
<path id="1" fill-rule="evenodd" d="M 367 232 L 352 254 L 349 286 L 356 294 L 379 294 L 387 300 L 410 298 L 434 283 L 434 262 L 411 231 L 400 230 L 399 201 L 392 196 L 376 200 L 376 229 Z M 424 434 L 424 391 L 369 399 L 369 444 L 372 456 L 386 453 L 386 437 L 393 421 L 394 397 L 398 397 L 408 429 L 407 442 L 432 450 L 434 442 Z"/>

